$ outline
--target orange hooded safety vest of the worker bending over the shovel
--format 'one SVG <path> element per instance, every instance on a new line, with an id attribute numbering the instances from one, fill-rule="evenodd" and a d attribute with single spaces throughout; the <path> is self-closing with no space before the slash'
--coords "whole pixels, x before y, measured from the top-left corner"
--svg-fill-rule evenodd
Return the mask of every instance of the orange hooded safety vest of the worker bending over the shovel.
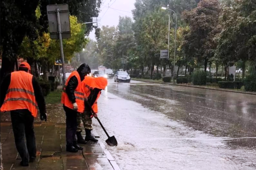
<path id="1" fill-rule="evenodd" d="M 108 85 L 108 80 L 106 78 L 102 78 L 102 77 L 101 78 L 93 78 L 93 77 L 86 76 L 84 78 L 84 80 L 82 81 L 82 86 L 84 88 L 85 97 L 89 97 L 91 91 L 94 88 L 103 90 L 106 88 L 107 85 Z M 101 94 L 101 92 L 98 93 L 98 96 L 92 105 L 92 109 L 95 113 L 98 113 L 97 100 L 99 99 L 100 94 Z"/>

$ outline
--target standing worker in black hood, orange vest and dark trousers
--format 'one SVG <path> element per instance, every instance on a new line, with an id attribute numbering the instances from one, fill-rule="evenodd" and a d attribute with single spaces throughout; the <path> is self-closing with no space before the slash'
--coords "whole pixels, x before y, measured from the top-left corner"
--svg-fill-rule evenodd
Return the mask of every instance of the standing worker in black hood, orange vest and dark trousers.
<path id="1" fill-rule="evenodd" d="M 76 117 L 84 112 L 84 89 L 82 81 L 91 72 L 88 64 L 83 63 L 72 72 L 62 92 L 61 102 L 66 112 L 66 150 L 78 152 L 83 148 L 76 141 Z"/>

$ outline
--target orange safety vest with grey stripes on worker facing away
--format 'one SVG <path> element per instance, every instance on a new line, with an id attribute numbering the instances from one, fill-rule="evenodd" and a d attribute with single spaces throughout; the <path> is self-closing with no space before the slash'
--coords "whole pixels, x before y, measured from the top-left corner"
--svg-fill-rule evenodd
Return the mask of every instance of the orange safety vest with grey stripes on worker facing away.
<path id="1" fill-rule="evenodd" d="M 33 75 L 25 71 L 11 73 L 11 82 L 1 112 L 28 109 L 36 117 L 38 106 L 32 85 Z"/>

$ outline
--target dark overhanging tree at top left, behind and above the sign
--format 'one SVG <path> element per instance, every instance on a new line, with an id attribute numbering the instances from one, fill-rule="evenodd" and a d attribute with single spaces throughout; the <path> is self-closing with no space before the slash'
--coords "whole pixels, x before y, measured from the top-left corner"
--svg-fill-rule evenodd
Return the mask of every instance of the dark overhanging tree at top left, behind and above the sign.
<path id="1" fill-rule="evenodd" d="M 80 21 L 97 17 L 100 0 L 3 0 L 1 7 L 1 57 L 2 68 L 0 78 L 14 70 L 19 48 L 23 38 L 28 37 L 33 42 L 38 35 L 48 32 L 46 6 L 49 4 L 68 4 L 71 15 L 79 17 Z M 40 7 L 41 16 L 37 18 L 36 9 Z M 86 9 L 86 13 L 84 10 Z M 91 15 L 92 14 L 92 15 Z M 93 16 L 95 15 L 95 16 Z M 92 29 L 89 25 L 87 32 Z"/>

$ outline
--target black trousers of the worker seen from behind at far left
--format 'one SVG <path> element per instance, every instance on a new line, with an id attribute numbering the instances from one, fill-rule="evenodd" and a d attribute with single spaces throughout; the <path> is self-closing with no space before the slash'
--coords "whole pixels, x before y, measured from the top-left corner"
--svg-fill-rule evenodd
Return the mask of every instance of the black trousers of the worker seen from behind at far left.
<path id="1" fill-rule="evenodd" d="M 23 163 L 36 158 L 36 137 L 34 133 L 34 117 L 27 109 L 11 111 L 12 129 L 16 148 Z M 25 137 L 27 145 L 25 144 Z"/>

